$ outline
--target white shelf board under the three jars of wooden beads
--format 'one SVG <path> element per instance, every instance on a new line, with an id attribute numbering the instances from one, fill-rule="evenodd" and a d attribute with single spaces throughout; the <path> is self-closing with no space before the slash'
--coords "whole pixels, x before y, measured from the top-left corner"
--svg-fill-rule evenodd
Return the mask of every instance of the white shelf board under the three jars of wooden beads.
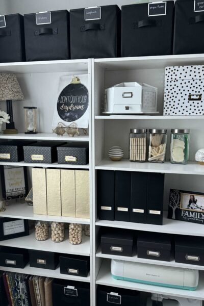
<path id="1" fill-rule="evenodd" d="M 79 245 L 72 245 L 68 240 L 68 230 L 66 231 L 65 240 L 62 242 L 53 242 L 51 234 L 49 233 L 49 239 L 45 241 L 37 241 L 35 239 L 35 231 L 31 231 L 29 236 L 19 237 L 9 240 L 0 241 L 0 245 L 27 248 L 31 250 L 41 250 L 48 252 L 75 254 L 82 256 L 90 256 L 90 239 L 87 236 L 82 237 L 82 243 Z"/>

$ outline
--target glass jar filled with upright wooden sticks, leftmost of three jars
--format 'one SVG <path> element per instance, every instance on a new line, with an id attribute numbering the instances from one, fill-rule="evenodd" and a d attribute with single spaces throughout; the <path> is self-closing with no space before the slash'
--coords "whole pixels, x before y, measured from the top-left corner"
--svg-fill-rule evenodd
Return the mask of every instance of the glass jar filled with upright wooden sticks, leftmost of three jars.
<path id="1" fill-rule="evenodd" d="M 129 159 L 131 162 L 146 161 L 146 129 L 131 129 Z"/>

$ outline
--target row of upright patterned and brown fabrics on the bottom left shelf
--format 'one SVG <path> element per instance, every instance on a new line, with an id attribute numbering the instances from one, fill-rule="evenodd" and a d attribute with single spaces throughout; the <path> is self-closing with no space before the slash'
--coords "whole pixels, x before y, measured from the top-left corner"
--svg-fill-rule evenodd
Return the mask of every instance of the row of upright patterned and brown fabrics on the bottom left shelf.
<path id="1" fill-rule="evenodd" d="M 1 306 L 52 306 L 53 278 L 0 272 Z"/>

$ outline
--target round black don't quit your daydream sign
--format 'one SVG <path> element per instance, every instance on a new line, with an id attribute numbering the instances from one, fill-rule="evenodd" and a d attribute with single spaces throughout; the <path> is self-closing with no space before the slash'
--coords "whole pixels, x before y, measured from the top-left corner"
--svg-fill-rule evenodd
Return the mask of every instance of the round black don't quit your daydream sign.
<path id="1" fill-rule="evenodd" d="M 67 122 L 80 119 L 89 105 L 87 88 L 81 84 L 67 85 L 59 95 L 57 111 L 60 118 Z"/>

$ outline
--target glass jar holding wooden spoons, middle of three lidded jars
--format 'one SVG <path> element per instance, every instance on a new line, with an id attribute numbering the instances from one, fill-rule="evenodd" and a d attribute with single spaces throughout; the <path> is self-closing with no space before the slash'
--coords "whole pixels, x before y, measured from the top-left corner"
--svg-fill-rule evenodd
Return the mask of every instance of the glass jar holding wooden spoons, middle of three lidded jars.
<path id="1" fill-rule="evenodd" d="M 166 157 L 167 130 L 149 130 L 149 163 L 164 163 Z"/>

